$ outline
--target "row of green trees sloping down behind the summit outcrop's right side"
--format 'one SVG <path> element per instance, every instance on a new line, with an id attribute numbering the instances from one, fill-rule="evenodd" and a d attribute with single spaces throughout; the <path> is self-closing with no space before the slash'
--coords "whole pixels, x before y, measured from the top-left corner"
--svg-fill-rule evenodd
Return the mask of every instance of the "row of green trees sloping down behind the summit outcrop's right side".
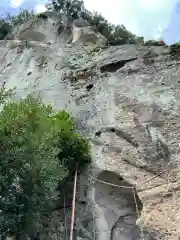
<path id="1" fill-rule="evenodd" d="M 135 43 L 135 35 L 123 25 L 114 25 L 108 22 L 100 13 L 88 11 L 82 0 L 52 0 L 48 4 L 50 10 L 63 12 L 66 16 L 77 19 L 82 18 L 95 26 L 97 31 L 104 35 L 109 43 Z"/>

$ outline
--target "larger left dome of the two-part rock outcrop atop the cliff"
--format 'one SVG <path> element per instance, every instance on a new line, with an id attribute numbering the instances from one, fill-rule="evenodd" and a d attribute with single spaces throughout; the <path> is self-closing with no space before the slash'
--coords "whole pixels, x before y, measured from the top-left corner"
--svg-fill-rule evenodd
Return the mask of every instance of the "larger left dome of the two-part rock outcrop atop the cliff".
<path id="1" fill-rule="evenodd" d="M 71 37 L 71 31 L 65 25 L 67 26 L 67 19 L 63 16 L 46 12 L 15 27 L 12 34 L 18 40 L 65 44 Z"/>

